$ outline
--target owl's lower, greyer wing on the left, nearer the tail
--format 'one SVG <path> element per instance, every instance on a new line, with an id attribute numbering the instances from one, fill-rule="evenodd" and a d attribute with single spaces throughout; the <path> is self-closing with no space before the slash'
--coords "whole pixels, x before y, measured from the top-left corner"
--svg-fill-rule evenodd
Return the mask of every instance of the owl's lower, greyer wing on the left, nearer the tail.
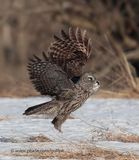
<path id="1" fill-rule="evenodd" d="M 58 96 L 63 90 L 74 87 L 67 73 L 50 62 L 45 54 L 43 57 L 44 60 L 34 56 L 28 64 L 30 79 L 37 91 L 42 95 Z"/>

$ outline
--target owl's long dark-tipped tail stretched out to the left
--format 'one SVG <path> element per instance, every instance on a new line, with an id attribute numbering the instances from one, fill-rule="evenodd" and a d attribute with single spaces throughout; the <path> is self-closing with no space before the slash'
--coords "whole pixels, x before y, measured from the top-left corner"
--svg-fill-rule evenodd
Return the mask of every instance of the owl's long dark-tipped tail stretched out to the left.
<path id="1" fill-rule="evenodd" d="M 50 102 L 45 102 L 38 104 L 32 107 L 29 107 L 23 115 L 32 115 L 32 114 L 46 114 L 55 116 L 60 108 L 60 103 L 56 100 Z"/>

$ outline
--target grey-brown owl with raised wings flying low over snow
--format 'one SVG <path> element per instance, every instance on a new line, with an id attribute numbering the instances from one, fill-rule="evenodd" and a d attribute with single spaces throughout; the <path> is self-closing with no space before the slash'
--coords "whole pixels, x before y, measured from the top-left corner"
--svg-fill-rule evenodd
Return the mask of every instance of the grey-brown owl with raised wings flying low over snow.
<path id="1" fill-rule="evenodd" d="M 70 28 L 61 31 L 61 38 L 54 36 L 47 55 L 36 55 L 29 60 L 30 79 L 42 95 L 53 96 L 50 102 L 28 108 L 24 114 L 46 114 L 53 117 L 54 127 L 61 126 L 71 112 L 81 105 L 100 87 L 92 72 L 83 73 L 83 66 L 91 54 L 91 42 L 86 31 Z"/>

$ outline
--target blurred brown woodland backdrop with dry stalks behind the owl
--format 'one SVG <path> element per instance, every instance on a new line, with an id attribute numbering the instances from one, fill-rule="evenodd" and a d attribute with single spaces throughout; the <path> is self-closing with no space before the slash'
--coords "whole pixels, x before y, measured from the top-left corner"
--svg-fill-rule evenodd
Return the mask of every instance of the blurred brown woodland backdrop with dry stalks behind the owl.
<path id="1" fill-rule="evenodd" d="M 92 39 L 85 70 L 102 84 L 99 96 L 139 95 L 138 0 L 0 0 L 0 96 L 39 95 L 28 58 L 47 52 L 53 35 L 80 27 Z"/>

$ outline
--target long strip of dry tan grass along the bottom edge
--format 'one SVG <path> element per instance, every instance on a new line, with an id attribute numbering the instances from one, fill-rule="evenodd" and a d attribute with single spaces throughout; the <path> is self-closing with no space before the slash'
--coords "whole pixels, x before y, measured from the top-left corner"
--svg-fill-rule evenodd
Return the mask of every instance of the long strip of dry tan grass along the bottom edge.
<path id="1" fill-rule="evenodd" d="M 89 160 L 95 158 L 104 158 L 107 160 L 137 160 L 138 156 L 132 153 L 121 154 L 116 151 L 107 151 L 100 148 L 85 148 L 79 152 L 64 151 L 64 150 L 45 150 L 45 151 L 30 151 L 30 152 L 16 152 L 13 153 L 16 156 L 31 156 L 34 158 L 46 159 L 46 158 L 58 158 L 58 159 L 80 159 Z"/>

